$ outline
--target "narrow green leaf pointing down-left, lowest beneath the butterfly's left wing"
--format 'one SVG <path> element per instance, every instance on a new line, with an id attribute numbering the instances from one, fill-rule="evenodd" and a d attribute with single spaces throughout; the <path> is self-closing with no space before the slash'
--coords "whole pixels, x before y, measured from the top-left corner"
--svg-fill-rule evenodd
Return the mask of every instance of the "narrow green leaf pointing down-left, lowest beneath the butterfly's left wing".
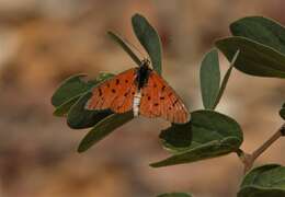
<path id="1" fill-rule="evenodd" d="M 127 112 L 125 114 L 113 114 L 102 119 L 82 139 L 78 147 L 78 152 L 88 150 L 98 141 L 110 135 L 113 130 L 132 120 L 133 118 L 133 112 Z"/>

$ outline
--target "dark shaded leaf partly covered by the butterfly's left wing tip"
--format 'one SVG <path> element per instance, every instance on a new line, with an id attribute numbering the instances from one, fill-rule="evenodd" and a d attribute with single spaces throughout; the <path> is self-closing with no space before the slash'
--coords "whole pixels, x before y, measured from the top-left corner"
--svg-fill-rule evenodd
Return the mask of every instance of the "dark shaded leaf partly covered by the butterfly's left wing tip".
<path id="1" fill-rule="evenodd" d="M 112 115 L 113 113 L 106 111 L 88 111 L 86 103 L 92 96 L 91 92 L 86 93 L 77 103 L 70 108 L 67 115 L 67 124 L 72 129 L 82 129 L 93 127 L 101 119 Z"/>

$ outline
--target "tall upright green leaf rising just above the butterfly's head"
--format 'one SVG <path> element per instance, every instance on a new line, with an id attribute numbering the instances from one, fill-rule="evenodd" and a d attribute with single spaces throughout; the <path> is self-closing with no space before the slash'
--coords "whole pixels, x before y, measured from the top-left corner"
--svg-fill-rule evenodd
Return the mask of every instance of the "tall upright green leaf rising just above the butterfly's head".
<path id="1" fill-rule="evenodd" d="M 133 30 L 148 53 L 153 69 L 161 74 L 161 43 L 156 30 L 149 22 L 140 14 L 135 14 L 132 18 Z"/>

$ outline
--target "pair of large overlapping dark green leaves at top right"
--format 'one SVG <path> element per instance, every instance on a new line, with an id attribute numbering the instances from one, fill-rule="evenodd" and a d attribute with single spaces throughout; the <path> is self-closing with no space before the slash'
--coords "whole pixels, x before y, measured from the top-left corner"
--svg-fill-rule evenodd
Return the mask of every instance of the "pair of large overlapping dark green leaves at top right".
<path id="1" fill-rule="evenodd" d="M 262 16 L 243 18 L 230 25 L 235 37 L 216 42 L 216 46 L 231 59 L 240 49 L 235 67 L 259 77 L 285 78 L 285 28 Z"/>

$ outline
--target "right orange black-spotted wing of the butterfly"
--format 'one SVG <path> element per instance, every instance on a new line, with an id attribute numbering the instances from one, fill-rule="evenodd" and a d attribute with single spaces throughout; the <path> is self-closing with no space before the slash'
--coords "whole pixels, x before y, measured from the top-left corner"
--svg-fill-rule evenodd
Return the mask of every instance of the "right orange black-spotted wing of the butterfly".
<path id="1" fill-rule="evenodd" d="M 189 120 L 189 112 L 174 90 L 155 71 L 141 90 L 139 112 L 147 117 L 162 117 L 171 123 Z"/>

